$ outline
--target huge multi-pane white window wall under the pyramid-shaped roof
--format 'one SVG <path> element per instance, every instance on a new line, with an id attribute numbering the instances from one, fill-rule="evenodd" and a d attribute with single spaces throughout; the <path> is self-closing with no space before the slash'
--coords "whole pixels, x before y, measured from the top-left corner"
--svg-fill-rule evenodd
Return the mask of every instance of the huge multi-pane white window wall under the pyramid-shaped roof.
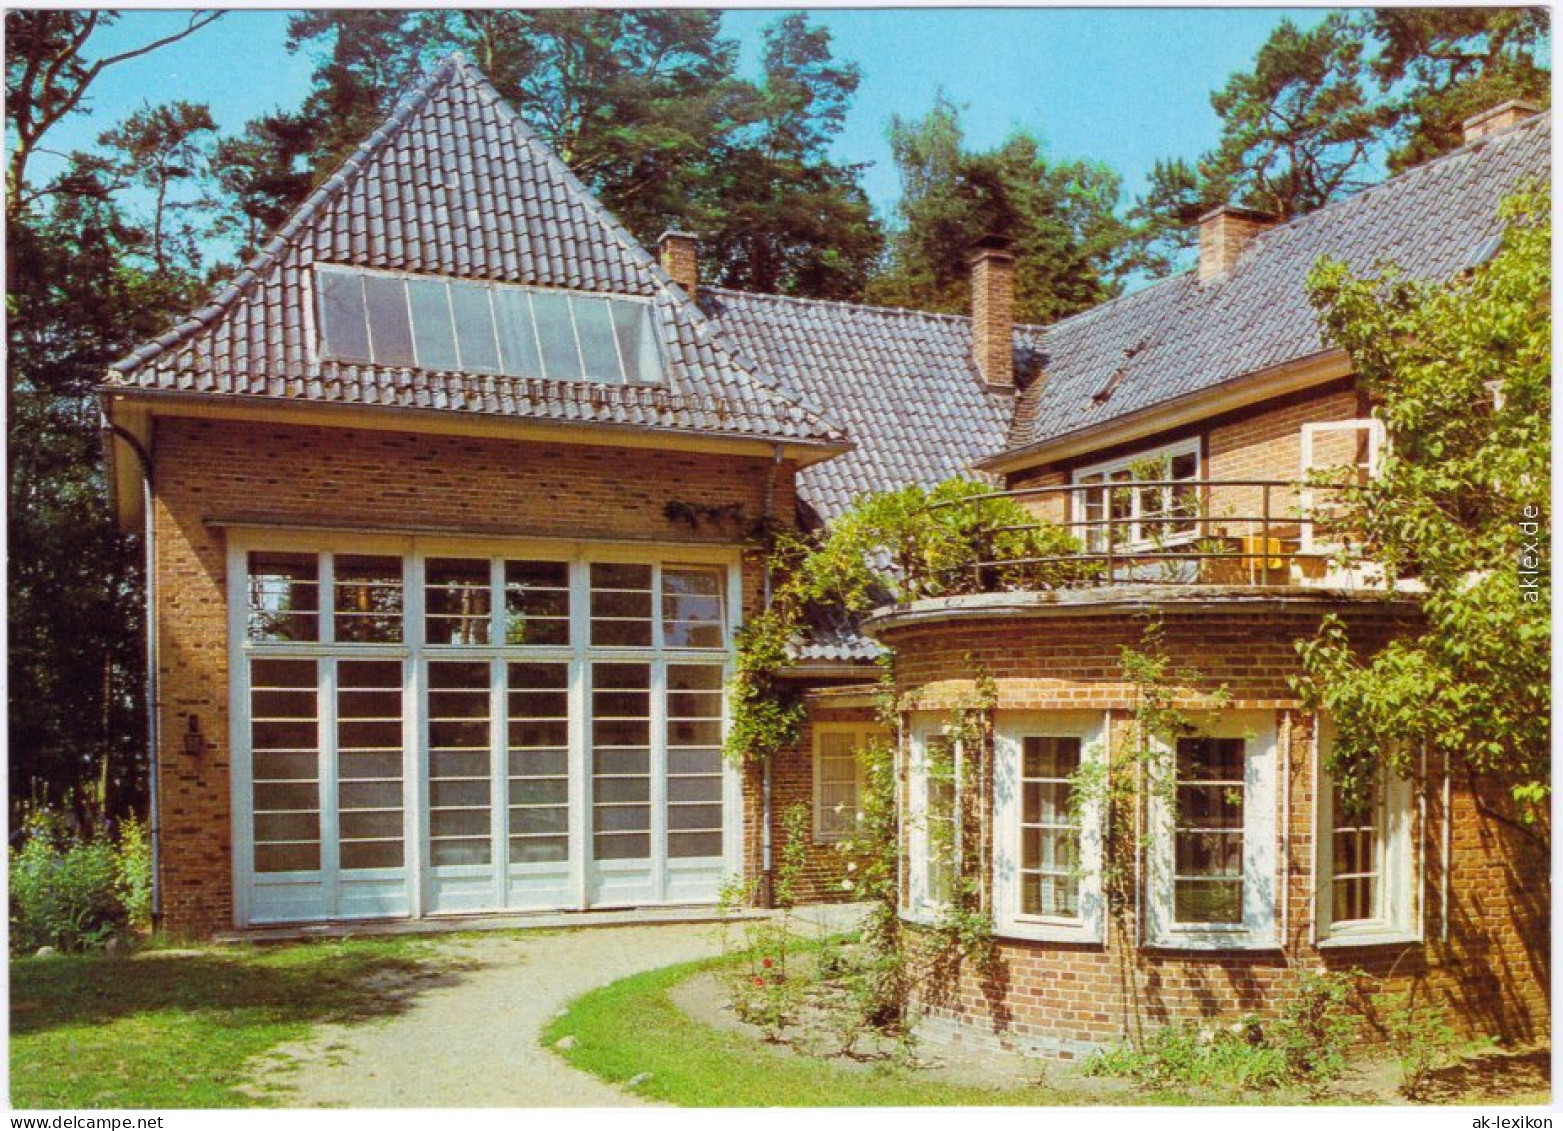
<path id="1" fill-rule="evenodd" d="M 714 900 L 735 564 L 230 530 L 238 922 Z"/>

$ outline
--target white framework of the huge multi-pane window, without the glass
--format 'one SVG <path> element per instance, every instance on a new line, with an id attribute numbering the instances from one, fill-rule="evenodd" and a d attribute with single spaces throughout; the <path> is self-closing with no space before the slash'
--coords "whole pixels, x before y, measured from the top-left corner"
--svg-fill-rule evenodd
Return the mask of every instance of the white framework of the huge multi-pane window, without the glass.
<path id="1" fill-rule="evenodd" d="M 231 805 L 231 875 L 234 892 L 234 923 L 249 926 L 259 922 L 255 917 L 255 884 L 253 870 L 253 806 L 252 806 L 252 759 L 250 759 L 250 703 L 249 703 L 249 665 L 252 656 L 272 658 L 316 658 L 330 661 L 333 658 L 377 658 L 400 659 L 406 673 L 403 687 L 403 867 L 386 870 L 361 870 L 358 876 L 366 879 L 380 878 L 405 889 L 399 911 L 372 917 L 413 917 L 420 919 L 430 914 L 431 883 L 435 870 L 428 862 L 428 744 L 427 744 L 427 665 L 428 661 L 444 659 L 481 659 L 489 662 L 491 695 L 495 705 L 505 698 L 505 669 L 510 661 L 567 662 L 570 665 L 570 787 L 569 787 L 569 840 L 570 853 L 567 861 L 569 875 L 561 876 L 561 892 L 558 904 L 561 908 L 585 909 L 594 903 L 611 901 L 611 894 L 592 894 L 592 878 L 589 869 L 614 870 L 616 861 L 594 861 L 591 858 L 591 820 L 592 812 L 588 803 L 589 795 L 589 703 L 585 687 L 589 684 L 589 669 L 602 661 L 649 661 L 653 665 L 653 750 L 664 744 L 660 730 L 660 697 L 664 694 L 661 672 L 671 664 L 710 664 L 721 667 L 724 684 L 731 676 L 731 640 L 738 628 L 738 615 L 742 609 L 742 558 L 730 547 L 702 547 L 685 544 L 646 544 L 627 545 L 594 541 L 563 541 L 563 539 L 497 539 L 497 537 L 460 537 L 460 536 L 403 536 L 403 534 L 372 534 L 372 533 L 338 533 L 338 531 L 302 531 L 275 530 L 269 526 L 230 525 L 227 531 L 227 594 L 228 594 L 228 748 L 233 751 L 230 773 L 230 805 Z M 253 642 L 249 639 L 249 555 L 250 551 L 272 553 L 309 553 L 322 555 L 319 586 L 319 633 L 316 640 L 308 642 Z M 331 603 L 334 600 L 334 559 L 338 555 L 383 555 L 397 556 L 403 561 L 403 639 L 394 644 L 338 644 L 334 639 L 334 617 Z M 424 575 L 425 562 L 430 558 L 481 558 L 489 561 L 491 586 L 497 594 L 491 600 L 491 631 L 489 644 L 431 647 L 424 640 Z M 510 645 L 503 644 L 505 601 L 503 601 L 503 562 L 514 561 L 566 561 L 570 576 L 570 640 L 560 645 Z M 589 644 L 589 586 L 588 573 L 592 562 L 633 562 L 649 564 L 653 569 L 652 598 L 652 644 L 649 647 L 608 647 Z M 663 611 L 661 611 L 661 570 L 663 567 L 719 567 L 725 570 L 724 590 L 724 645 L 705 648 L 664 647 L 663 644 Z M 324 678 L 324 676 L 322 676 Z M 336 740 L 334 740 L 334 684 L 331 694 L 320 692 L 322 708 L 319 714 L 320 726 L 320 869 L 303 873 L 264 873 L 259 881 L 269 887 L 291 887 L 299 890 L 295 904 L 299 908 L 319 904 L 320 911 L 300 912 L 295 919 L 317 920 L 336 915 L 338 889 L 342 887 L 341 875 L 328 864 L 334 864 L 336 840 L 339 828 L 334 823 L 334 789 L 327 789 L 324 783 L 334 781 Z M 495 708 L 497 709 L 497 708 Z M 730 720 L 724 701 L 722 731 L 725 734 Z M 499 714 L 492 715 L 495 720 Z M 508 776 L 508 736 L 497 722 L 491 726 L 492 755 L 491 769 L 495 775 L 495 798 L 500 797 L 508 783 L 500 781 L 502 770 Z M 653 808 L 660 805 L 664 792 L 658 773 L 666 775 L 666 765 L 658 770 L 653 756 Z M 583 792 L 585 790 L 585 792 Z M 696 872 L 705 875 L 716 867 L 722 875 L 742 869 L 742 783 L 736 770 L 722 762 L 722 854 L 713 865 L 713 858 L 667 858 L 666 840 L 653 844 L 652 884 L 655 890 L 638 901 L 689 901 L 681 898 L 681 883 Z M 510 864 L 508 861 L 508 805 L 499 805 L 505 815 L 494 833 L 494 859 L 491 865 L 470 865 L 478 870 L 492 867 L 499 876 L 497 883 L 506 889 L 516 876 L 524 873 L 553 869 L 553 864 Z M 666 833 L 663 825 L 666 814 L 655 815 L 653 825 L 660 833 Z M 605 867 L 606 865 L 606 867 Z M 456 873 L 469 865 L 444 865 L 442 873 Z M 714 873 L 713 873 L 714 875 Z M 702 881 L 703 883 L 703 881 Z M 316 889 L 319 895 L 309 895 L 305 889 Z M 478 898 L 478 897 L 475 897 Z M 488 897 L 483 897 L 488 898 Z M 703 898 L 703 897 L 702 897 Z M 475 906 L 474 909 L 510 909 L 505 894 L 497 892 L 492 903 Z M 275 915 L 270 922 L 278 922 Z"/>

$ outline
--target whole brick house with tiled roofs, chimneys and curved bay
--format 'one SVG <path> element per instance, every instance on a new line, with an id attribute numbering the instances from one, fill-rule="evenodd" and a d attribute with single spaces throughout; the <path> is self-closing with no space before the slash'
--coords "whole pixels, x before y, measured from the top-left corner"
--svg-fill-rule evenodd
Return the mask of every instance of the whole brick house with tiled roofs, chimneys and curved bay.
<path id="1" fill-rule="evenodd" d="M 1329 719 L 1286 683 L 1325 612 L 1366 639 L 1415 617 L 1330 566 L 1294 486 L 1372 473 L 1383 442 L 1304 275 L 1480 262 L 1499 200 L 1547 170 L 1525 119 L 1286 225 L 1218 209 L 1196 272 L 1024 326 L 1002 241 L 972 252 L 969 319 L 705 287 L 694 236 L 639 247 L 445 61 L 103 386 L 117 505 L 147 531 L 163 923 L 710 904 L 774 865 L 796 803 L 830 897 L 891 647 L 905 915 L 936 919 L 927 830 L 964 805 L 1000 951 L 1002 978 L 960 975 L 930 1012 L 1068 1053 L 1272 1008 L 1322 964 L 1544 1033 L 1546 859 L 1436 765 L 1338 819 Z M 724 764 L 731 634 L 771 583 L 753 523 L 974 473 L 1072 526 L 1103 583 L 819 625 L 791 673 L 802 747 Z M 1146 800 L 1132 906 L 1108 906 L 1068 790 L 1125 722 L 1147 609 L 1232 697 L 1174 751 L 1188 805 Z M 961 750 L 974 664 L 993 739 Z M 977 797 L 935 750 L 982 764 Z"/>

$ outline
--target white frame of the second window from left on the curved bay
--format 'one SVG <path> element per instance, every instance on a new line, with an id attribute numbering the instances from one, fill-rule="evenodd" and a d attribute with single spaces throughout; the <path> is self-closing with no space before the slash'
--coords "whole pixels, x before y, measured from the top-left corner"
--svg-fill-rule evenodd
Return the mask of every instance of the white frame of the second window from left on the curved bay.
<path id="1" fill-rule="evenodd" d="M 1021 911 L 1021 773 L 1028 737 L 1080 739 L 1080 765 L 1107 759 L 1107 712 L 1103 711 L 1000 711 L 994 720 L 993 786 L 993 892 L 994 931 L 1008 939 L 1036 942 L 1105 940 L 1102 894 L 1100 798 L 1080 812 L 1080 914 L 1027 915 Z"/>

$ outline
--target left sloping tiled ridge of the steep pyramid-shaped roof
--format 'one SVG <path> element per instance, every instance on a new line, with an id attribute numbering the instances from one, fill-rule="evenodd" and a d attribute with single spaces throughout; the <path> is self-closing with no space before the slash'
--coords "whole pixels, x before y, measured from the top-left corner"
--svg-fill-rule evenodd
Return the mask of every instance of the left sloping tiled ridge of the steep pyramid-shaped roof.
<path id="1" fill-rule="evenodd" d="M 163 356 L 175 345 L 180 345 L 200 330 L 205 330 L 225 314 L 249 292 L 252 286 L 259 283 L 261 272 L 272 267 L 286 253 L 292 237 L 303 228 L 305 223 L 314 219 L 314 214 L 325 205 L 325 202 L 339 192 L 347 181 L 352 180 L 353 173 L 363 169 L 375 153 L 391 144 L 391 141 L 406 127 L 408 119 L 411 119 L 419 108 L 428 105 L 435 91 L 439 89 L 442 83 L 447 83 L 450 77 L 461 70 L 466 64 L 467 59 L 461 52 L 452 52 L 435 64 L 420 83 L 402 92 L 402 95 L 397 97 L 395 106 L 392 106 L 391 112 L 386 116 L 386 120 L 381 122 L 372 134 L 353 147 L 353 152 L 342 158 L 331 173 L 309 191 L 309 195 L 299 203 L 299 208 L 295 208 L 288 220 L 275 233 L 272 233 L 269 241 L 266 241 L 266 247 L 250 256 L 250 261 L 245 262 L 239 273 L 228 281 L 227 287 L 224 287 L 209 303 L 197 309 L 183 322 L 177 322 L 145 345 L 138 345 L 128 355 L 113 362 L 109 366 L 109 372 L 128 373 L 139 369 L 148 361 Z"/>

